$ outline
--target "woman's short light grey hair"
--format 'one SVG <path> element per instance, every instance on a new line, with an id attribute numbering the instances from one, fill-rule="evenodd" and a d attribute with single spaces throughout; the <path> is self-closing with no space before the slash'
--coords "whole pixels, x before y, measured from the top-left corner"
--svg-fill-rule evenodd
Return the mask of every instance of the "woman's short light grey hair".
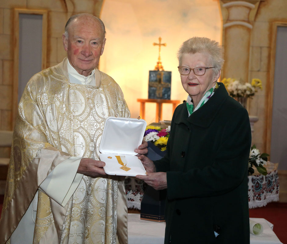
<path id="1" fill-rule="evenodd" d="M 181 44 L 177 53 L 179 65 L 181 65 L 181 59 L 183 54 L 194 54 L 196 52 L 206 52 L 210 55 L 211 65 L 215 67 L 213 69 L 214 73 L 217 74 L 219 70 L 221 70 L 221 66 L 224 63 L 223 48 L 221 45 L 219 45 L 217 41 L 210 40 L 206 37 L 193 37 Z"/>

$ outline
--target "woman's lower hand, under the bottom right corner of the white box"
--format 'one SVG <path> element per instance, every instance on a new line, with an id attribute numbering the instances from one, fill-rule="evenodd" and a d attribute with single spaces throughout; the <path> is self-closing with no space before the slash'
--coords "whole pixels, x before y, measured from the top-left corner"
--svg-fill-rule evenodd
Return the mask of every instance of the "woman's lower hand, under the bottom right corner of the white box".
<path id="1" fill-rule="evenodd" d="M 147 175 L 136 175 L 135 177 L 144 180 L 146 184 L 155 188 L 156 190 L 162 190 L 167 188 L 167 173 L 166 172 L 156 172 L 148 173 Z"/>

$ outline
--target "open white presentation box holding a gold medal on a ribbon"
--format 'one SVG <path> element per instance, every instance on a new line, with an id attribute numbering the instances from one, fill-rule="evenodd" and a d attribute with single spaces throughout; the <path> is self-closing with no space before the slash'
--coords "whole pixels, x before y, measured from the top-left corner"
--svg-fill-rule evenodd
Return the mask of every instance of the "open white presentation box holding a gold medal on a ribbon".
<path id="1" fill-rule="evenodd" d="M 104 127 L 99 158 L 106 174 L 146 175 L 135 149 L 142 144 L 146 122 L 142 119 L 108 117 Z"/>

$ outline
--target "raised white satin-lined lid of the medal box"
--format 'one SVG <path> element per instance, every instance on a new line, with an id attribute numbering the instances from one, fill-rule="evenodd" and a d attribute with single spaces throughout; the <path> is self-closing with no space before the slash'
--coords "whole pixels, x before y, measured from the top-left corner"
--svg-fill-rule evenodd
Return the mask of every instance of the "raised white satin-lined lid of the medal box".
<path id="1" fill-rule="evenodd" d="M 146 122 L 142 119 L 108 117 L 100 143 L 101 153 L 136 155 L 142 144 Z"/>

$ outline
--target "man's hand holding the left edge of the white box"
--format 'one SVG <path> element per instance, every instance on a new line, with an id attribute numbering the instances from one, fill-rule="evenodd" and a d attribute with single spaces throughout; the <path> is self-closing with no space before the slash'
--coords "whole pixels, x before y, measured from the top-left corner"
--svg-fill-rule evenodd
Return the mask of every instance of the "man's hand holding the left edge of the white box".
<path id="1" fill-rule="evenodd" d="M 91 158 L 82 158 L 77 173 L 91 176 L 93 178 L 99 177 L 100 175 L 106 175 L 103 169 L 105 165 L 106 163 L 102 161 Z"/>

